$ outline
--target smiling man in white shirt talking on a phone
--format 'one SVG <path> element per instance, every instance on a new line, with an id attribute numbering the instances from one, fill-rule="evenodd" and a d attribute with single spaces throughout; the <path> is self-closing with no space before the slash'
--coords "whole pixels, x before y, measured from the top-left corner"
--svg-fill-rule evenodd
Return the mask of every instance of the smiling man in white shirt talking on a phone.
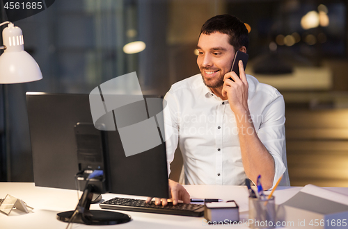
<path id="1" fill-rule="evenodd" d="M 185 184 L 244 185 L 246 178 L 256 183 L 261 175 L 264 189 L 271 189 L 285 171 L 283 96 L 246 76 L 242 61 L 240 78 L 230 71 L 236 51 L 247 48 L 248 31 L 237 17 L 207 20 L 197 45 L 200 74 L 175 83 L 164 98 L 165 123 L 173 130 L 166 141 L 167 159 L 173 160 L 179 144 Z M 189 203 L 182 185 L 169 180 L 169 187 L 173 204 Z M 166 205 L 167 200 L 156 198 L 155 203 Z"/>

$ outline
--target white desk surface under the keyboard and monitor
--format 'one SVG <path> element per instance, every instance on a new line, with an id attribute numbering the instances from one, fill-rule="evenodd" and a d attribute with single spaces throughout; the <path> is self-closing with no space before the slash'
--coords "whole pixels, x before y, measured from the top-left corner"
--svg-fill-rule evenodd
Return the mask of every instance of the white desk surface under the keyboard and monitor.
<path id="1" fill-rule="evenodd" d="M 214 185 L 184 185 L 191 194 L 191 198 L 222 198 L 224 201 L 235 200 L 239 205 L 240 219 L 248 220 L 248 192 L 244 186 L 214 186 Z M 301 187 L 278 187 L 274 196 L 276 203 L 283 203 L 299 192 Z M 347 194 L 348 188 L 334 188 L 335 192 Z M 267 193 L 267 192 L 266 192 Z M 1 229 L 64 229 L 67 223 L 56 219 L 58 212 L 74 210 L 77 205 L 77 191 L 68 189 L 54 189 L 47 187 L 35 187 L 34 183 L 0 183 L 0 198 L 5 198 L 10 194 L 21 198 L 29 206 L 34 207 L 32 213 L 26 214 L 13 211 L 10 216 L 0 213 Z M 103 194 L 103 199 L 108 200 L 115 196 L 138 198 L 138 196 Z M 144 197 L 139 197 L 144 198 Z M 90 209 L 100 209 L 99 205 L 91 205 Z M 180 217 L 165 214 L 150 214 L 141 212 L 125 212 L 132 217 L 132 221 L 125 224 L 113 226 L 84 226 L 74 223 L 72 228 L 207 228 L 203 217 Z M 216 227 L 216 226 L 209 226 Z M 226 228 L 226 226 L 219 226 Z M 227 226 L 227 228 L 232 226 Z M 248 228 L 247 226 L 238 226 L 237 228 Z"/>

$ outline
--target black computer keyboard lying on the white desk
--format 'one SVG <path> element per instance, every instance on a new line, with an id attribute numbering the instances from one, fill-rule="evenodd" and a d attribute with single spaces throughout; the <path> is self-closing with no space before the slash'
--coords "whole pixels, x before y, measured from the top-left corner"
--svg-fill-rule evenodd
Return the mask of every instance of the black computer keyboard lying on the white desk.
<path id="1" fill-rule="evenodd" d="M 155 201 L 146 203 L 145 200 L 134 198 L 112 198 L 109 201 L 100 203 L 100 207 L 104 209 L 132 211 L 132 212 L 148 212 L 158 214 L 175 214 L 187 217 L 203 217 L 204 205 L 191 203 L 173 203 L 168 202 L 168 205 L 155 205 Z"/>

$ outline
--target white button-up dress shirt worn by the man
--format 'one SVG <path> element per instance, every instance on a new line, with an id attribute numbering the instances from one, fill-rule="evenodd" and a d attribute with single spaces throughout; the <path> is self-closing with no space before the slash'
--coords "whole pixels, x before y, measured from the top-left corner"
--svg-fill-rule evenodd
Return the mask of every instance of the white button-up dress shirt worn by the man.
<path id="1" fill-rule="evenodd" d="M 246 75 L 246 78 L 248 107 L 255 130 L 274 158 L 275 185 L 285 171 L 282 160 L 286 155 L 284 99 L 274 87 L 259 83 L 253 76 Z M 228 101 L 213 94 L 200 74 L 172 85 L 164 99 L 168 168 L 179 143 L 185 184 L 244 185 L 246 174 L 236 117 Z M 242 131 L 251 133 L 253 128 Z"/>

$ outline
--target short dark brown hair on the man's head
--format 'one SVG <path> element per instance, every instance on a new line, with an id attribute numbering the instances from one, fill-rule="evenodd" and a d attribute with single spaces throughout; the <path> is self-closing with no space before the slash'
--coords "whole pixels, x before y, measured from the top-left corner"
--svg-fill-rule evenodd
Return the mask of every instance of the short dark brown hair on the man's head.
<path id="1" fill-rule="evenodd" d="M 230 39 L 228 42 L 239 50 L 242 46 L 248 49 L 249 34 L 244 22 L 238 17 L 232 15 L 216 15 L 211 19 L 208 19 L 200 29 L 200 34 L 210 35 L 211 33 L 224 33 L 227 34 Z"/>

